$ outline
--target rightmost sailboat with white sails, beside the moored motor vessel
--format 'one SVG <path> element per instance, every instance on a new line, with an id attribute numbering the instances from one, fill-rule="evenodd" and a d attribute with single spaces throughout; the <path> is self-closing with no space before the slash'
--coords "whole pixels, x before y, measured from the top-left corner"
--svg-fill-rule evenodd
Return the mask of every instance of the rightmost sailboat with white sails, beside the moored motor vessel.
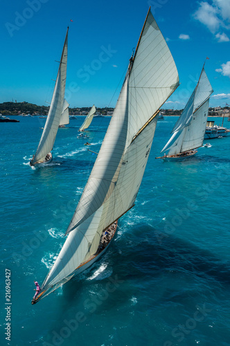
<path id="1" fill-rule="evenodd" d="M 205 64 L 205 63 L 204 63 Z M 204 71 L 200 74 L 197 85 L 188 100 L 182 115 L 172 129 L 172 136 L 161 152 L 169 150 L 162 158 L 165 161 L 182 161 L 197 153 L 202 147 L 209 113 L 209 98 L 213 89 Z"/>

